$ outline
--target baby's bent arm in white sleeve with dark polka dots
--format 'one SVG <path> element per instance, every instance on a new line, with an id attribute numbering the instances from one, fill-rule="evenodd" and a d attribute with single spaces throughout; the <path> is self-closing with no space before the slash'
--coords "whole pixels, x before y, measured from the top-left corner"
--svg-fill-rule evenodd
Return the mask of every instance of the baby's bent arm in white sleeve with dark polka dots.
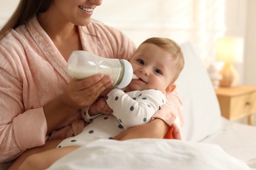
<path id="1" fill-rule="evenodd" d="M 108 93 L 106 102 L 117 120 L 127 129 L 150 122 L 152 115 L 165 103 L 165 95 L 159 90 L 125 93 L 115 89 Z"/>

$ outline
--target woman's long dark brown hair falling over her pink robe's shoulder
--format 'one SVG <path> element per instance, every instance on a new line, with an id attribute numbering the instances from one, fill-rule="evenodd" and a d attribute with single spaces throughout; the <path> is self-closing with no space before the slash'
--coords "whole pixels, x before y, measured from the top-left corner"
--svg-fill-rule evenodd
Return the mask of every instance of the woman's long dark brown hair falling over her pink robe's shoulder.
<path id="1" fill-rule="evenodd" d="M 0 30 L 0 40 L 3 39 L 11 29 L 26 24 L 36 14 L 47 11 L 51 2 L 51 0 L 20 0 L 11 18 L 9 18 L 7 23 Z"/>

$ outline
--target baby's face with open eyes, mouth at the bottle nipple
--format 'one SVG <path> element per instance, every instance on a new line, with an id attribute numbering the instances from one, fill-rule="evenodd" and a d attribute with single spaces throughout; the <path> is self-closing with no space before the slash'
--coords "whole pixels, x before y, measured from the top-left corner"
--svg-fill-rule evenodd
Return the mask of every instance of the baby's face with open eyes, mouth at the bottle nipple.
<path id="1" fill-rule="evenodd" d="M 158 89 L 165 92 L 172 84 L 177 61 L 172 54 L 159 46 L 144 43 L 136 50 L 130 60 L 133 73 L 139 79 L 133 79 L 127 88 L 129 90 Z"/>

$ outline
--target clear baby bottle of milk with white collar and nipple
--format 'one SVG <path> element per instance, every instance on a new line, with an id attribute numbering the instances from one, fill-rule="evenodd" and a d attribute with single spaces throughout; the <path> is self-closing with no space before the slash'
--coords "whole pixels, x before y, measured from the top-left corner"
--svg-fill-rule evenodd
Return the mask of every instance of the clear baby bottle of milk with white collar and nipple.
<path id="1" fill-rule="evenodd" d="M 85 51 L 74 51 L 68 59 L 68 75 L 73 78 L 82 79 L 89 76 L 102 73 L 110 75 L 113 80 L 113 86 L 125 88 L 133 78 L 133 67 L 125 59 L 110 59 L 96 56 Z"/>

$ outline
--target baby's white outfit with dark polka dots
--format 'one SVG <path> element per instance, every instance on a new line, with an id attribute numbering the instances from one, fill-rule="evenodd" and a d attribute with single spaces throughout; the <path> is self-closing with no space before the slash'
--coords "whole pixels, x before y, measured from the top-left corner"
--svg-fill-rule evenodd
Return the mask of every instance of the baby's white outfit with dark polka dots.
<path id="1" fill-rule="evenodd" d="M 64 139 L 58 147 L 83 145 L 95 139 L 112 139 L 124 129 L 150 122 L 153 114 L 161 109 L 165 101 L 165 95 L 159 90 L 125 93 L 123 90 L 114 89 L 106 96 L 106 102 L 113 110 L 114 116 L 89 116 L 86 109 L 82 116 L 90 124 L 79 135 Z"/>

